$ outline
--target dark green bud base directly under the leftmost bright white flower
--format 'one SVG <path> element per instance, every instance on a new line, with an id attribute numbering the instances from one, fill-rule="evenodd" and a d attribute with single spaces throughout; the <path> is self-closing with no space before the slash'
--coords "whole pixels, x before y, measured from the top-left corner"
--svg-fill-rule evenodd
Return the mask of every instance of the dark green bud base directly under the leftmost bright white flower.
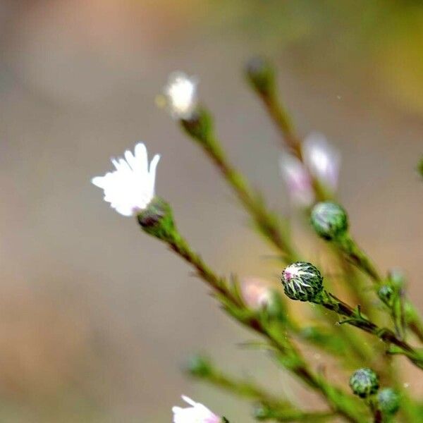
<path id="1" fill-rule="evenodd" d="M 168 240 L 175 231 L 171 206 L 159 197 L 137 214 L 137 221 L 145 232 L 161 240 Z"/>

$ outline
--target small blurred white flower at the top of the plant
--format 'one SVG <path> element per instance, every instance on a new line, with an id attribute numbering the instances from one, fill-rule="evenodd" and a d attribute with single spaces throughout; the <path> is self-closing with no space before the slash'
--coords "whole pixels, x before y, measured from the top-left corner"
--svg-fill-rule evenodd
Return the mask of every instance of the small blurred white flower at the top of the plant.
<path id="1" fill-rule="evenodd" d="M 197 78 L 183 72 L 169 75 L 164 87 L 166 104 L 171 116 L 176 119 L 189 119 L 197 106 Z"/>

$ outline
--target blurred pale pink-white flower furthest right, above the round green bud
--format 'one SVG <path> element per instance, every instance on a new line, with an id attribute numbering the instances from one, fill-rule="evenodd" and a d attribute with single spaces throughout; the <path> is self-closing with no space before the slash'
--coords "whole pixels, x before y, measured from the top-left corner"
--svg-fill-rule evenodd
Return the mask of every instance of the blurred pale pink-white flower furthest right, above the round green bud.
<path id="1" fill-rule="evenodd" d="M 302 143 L 305 166 L 311 175 L 333 192 L 338 187 L 341 154 L 321 133 L 310 133 Z"/>

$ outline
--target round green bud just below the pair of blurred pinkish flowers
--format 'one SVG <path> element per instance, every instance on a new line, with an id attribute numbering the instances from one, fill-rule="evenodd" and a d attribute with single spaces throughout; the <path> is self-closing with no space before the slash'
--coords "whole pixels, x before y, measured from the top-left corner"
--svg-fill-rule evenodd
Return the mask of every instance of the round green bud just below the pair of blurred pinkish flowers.
<path id="1" fill-rule="evenodd" d="M 343 207 L 332 202 L 320 202 L 312 209 L 314 231 L 325 240 L 333 240 L 348 231 L 348 216 Z"/>

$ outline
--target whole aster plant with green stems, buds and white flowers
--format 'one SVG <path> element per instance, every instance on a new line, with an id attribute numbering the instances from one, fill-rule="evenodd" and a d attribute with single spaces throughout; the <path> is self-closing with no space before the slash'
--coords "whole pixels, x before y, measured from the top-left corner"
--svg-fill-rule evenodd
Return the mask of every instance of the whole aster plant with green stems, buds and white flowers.
<path id="1" fill-rule="evenodd" d="M 211 112 L 200 104 L 197 78 L 185 73 L 170 75 L 158 104 L 209 157 L 253 227 L 274 248 L 279 281 L 223 276 L 202 259 L 179 231 L 171 204 L 156 195 L 159 155 L 149 162 L 144 144 L 113 159 L 114 171 L 92 183 L 104 190 L 104 200 L 116 212 L 135 217 L 142 231 L 183 259 L 209 286 L 223 312 L 255 333 L 260 340 L 255 345 L 266 350 L 282 372 L 317 394 L 321 407 L 312 410 L 305 401 L 293 403 L 269 392 L 265 381 L 229 374 L 204 355 L 188 360 L 187 374 L 250 401 L 257 421 L 423 422 L 423 401 L 403 380 L 405 362 L 415 367 L 417 376 L 423 370 L 422 319 L 407 298 L 403 272 L 381 271 L 354 240 L 348 213 L 336 200 L 340 153 L 324 135 L 298 135 L 278 95 L 271 63 L 252 59 L 245 78 L 280 132 L 282 180 L 310 236 L 324 240 L 319 246 L 326 258 L 316 262 L 307 257 L 295 245 L 288 219 L 269 209 L 231 163 Z M 422 172 L 422 161 L 418 169 Z M 296 300 L 302 305 L 294 312 Z M 330 372 L 314 364 L 310 351 L 327 357 Z M 239 422 L 235 415 L 226 418 L 188 397 L 183 400 L 189 406 L 173 407 L 174 423 Z"/>

